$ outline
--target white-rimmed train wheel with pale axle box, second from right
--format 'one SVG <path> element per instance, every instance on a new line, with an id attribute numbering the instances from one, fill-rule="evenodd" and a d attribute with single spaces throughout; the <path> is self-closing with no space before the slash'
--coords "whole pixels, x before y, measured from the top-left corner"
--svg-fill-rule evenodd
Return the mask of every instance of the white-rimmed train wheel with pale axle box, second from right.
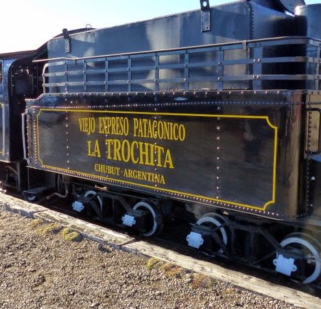
<path id="1" fill-rule="evenodd" d="M 226 227 L 222 226 L 226 221 L 226 218 L 219 214 L 204 214 L 193 225 L 191 233 L 187 236 L 189 246 L 196 249 L 200 249 L 202 246 L 201 249 L 204 249 L 206 252 L 223 253 L 224 250 L 222 247 L 219 247 L 215 239 L 224 245 L 228 243 L 228 232 Z"/>

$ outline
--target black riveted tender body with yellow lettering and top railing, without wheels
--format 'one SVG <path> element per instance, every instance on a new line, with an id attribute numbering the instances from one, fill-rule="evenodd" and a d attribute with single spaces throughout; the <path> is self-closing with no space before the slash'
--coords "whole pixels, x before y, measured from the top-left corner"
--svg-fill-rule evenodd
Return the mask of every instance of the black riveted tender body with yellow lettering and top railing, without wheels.
<path id="1" fill-rule="evenodd" d="M 321 41 L 293 36 L 305 23 L 279 4 L 218 5 L 206 32 L 198 10 L 70 34 L 67 55 L 66 37 L 53 38 L 48 94 L 27 107 L 30 166 L 259 216 L 307 216 L 304 91 L 320 89 Z"/>

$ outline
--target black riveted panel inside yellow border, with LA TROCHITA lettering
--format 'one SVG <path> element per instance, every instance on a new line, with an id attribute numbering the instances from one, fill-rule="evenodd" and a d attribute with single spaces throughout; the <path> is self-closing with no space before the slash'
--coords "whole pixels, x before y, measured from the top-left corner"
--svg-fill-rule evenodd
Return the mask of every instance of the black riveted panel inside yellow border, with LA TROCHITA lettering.
<path id="1" fill-rule="evenodd" d="M 265 210 L 278 128 L 267 115 L 40 108 L 37 163 L 106 183 Z"/>

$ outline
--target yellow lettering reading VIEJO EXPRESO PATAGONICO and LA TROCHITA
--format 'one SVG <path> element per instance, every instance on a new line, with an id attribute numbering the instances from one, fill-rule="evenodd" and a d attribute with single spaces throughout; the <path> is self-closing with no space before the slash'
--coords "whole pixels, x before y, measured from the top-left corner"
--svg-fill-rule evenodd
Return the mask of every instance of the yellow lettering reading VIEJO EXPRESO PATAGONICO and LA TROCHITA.
<path id="1" fill-rule="evenodd" d="M 80 132 L 91 135 L 119 135 L 123 137 L 143 137 L 169 141 L 184 141 L 186 129 L 183 124 L 164 122 L 148 118 L 128 117 L 82 117 L 79 119 Z M 130 134 L 131 133 L 131 134 Z M 129 139 L 105 139 L 106 159 L 174 168 L 171 150 L 143 141 Z M 98 139 L 88 140 L 88 157 L 102 157 L 102 145 Z"/>

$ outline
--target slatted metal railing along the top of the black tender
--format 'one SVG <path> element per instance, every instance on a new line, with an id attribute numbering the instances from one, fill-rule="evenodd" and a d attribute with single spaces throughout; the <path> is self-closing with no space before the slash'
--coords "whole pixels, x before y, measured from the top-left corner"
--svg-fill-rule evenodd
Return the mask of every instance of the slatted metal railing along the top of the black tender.
<path id="1" fill-rule="evenodd" d="M 217 90 L 224 89 L 224 82 L 243 82 L 252 81 L 253 89 L 261 89 L 261 81 L 263 80 L 319 80 L 319 71 L 313 71 L 309 74 L 307 69 L 297 73 L 264 73 L 263 65 L 286 64 L 286 63 L 302 63 L 312 64 L 318 68 L 320 64 L 320 55 L 315 53 L 311 55 L 299 56 L 265 56 L 265 47 L 276 47 L 281 45 L 301 45 L 303 48 L 315 47 L 316 51 L 321 46 L 321 41 L 306 38 L 306 37 L 283 37 L 283 38 L 268 38 L 263 40 L 240 41 L 226 44 L 199 45 L 193 47 L 180 47 L 175 49 L 163 49 L 160 51 L 133 52 L 126 54 L 111 54 L 104 56 L 93 56 L 83 58 L 68 58 L 61 61 L 62 58 L 49 59 L 43 67 L 43 87 L 44 93 L 50 87 L 64 87 L 63 91 L 49 92 L 69 92 L 69 87 L 83 87 L 83 92 L 87 92 L 87 86 L 105 87 L 102 92 L 108 92 L 110 85 L 127 85 L 127 91 L 132 91 L 132 85 L 154 84 L 154 89 L 147 91 L 158 91 L 160 84 L 178 83 L 182 84 L 184 90 L 189 90 L 191 82 L 211 82 L 217 84 Z M 231 50 L 240 50 L 243 52 L 243 58 L 239 59 L 224 59 L 225 53 Z M 190 57 L 195 54 L 215 52 L 215 60 L 204 60 L 191 62 Z M 311 52 L 311 51 L 310 51 Z M 241 52 L 242 54 L 242 52 Z M 182 61 L 179 63 L 163 64 L 160 63 L 162 56 L 181 55 Z M 146 58 L 148 61 L 145 65 L 133 66 L 132 61 L 137 58 Z M 64 58 L 65 59 L 65 58 Z M 54 62 L 53 62 L 54 60 Z M 58 61 L 59 60 L 59 61 Z M 110 67 L 113 61 L 123 61 L 121 67 Z M 38 60 L 37 60 L 38 61 Z M 150 64 L 152 62 L 152 64 Z M 95 65 L 100 65 L 95 69 Z M 68 69 L 69 65 L 73 69 Z M 244 73 L 241 75 L 227 75 L 227 67 L 233 65 L 244 65 Z M 61 70 L 60 67 L 64 66 Z M 216 70 L 211 72 L 210 76 L 190 76 L 191 69 L 210 68 Z M 47 72 L 48 70 L 48 72 Z M 176 70 L 176 74 L 180 76 L 165 76 L 160 77 L 161 70 Z M 148 78 L 134 78 L 132 73 L 135 72 L 150 72 Z M 151 78 L 151 73 L 154 71 L 154 78 Z M 121 73 L 121 78 L 110 79 L 111 73 Z M 96 76 L 95 80 L 88 80 L 90 76 Z M 71 81 L 69 76 L 73 78 Z M 79 78 L 78 78 L 79 77 Z M 48 79 L 48 82 L 47 80 Z M 314 85 L 318 89 L 318 83 Z M 216 89 L 215 89 L 216 90 Z"/>

